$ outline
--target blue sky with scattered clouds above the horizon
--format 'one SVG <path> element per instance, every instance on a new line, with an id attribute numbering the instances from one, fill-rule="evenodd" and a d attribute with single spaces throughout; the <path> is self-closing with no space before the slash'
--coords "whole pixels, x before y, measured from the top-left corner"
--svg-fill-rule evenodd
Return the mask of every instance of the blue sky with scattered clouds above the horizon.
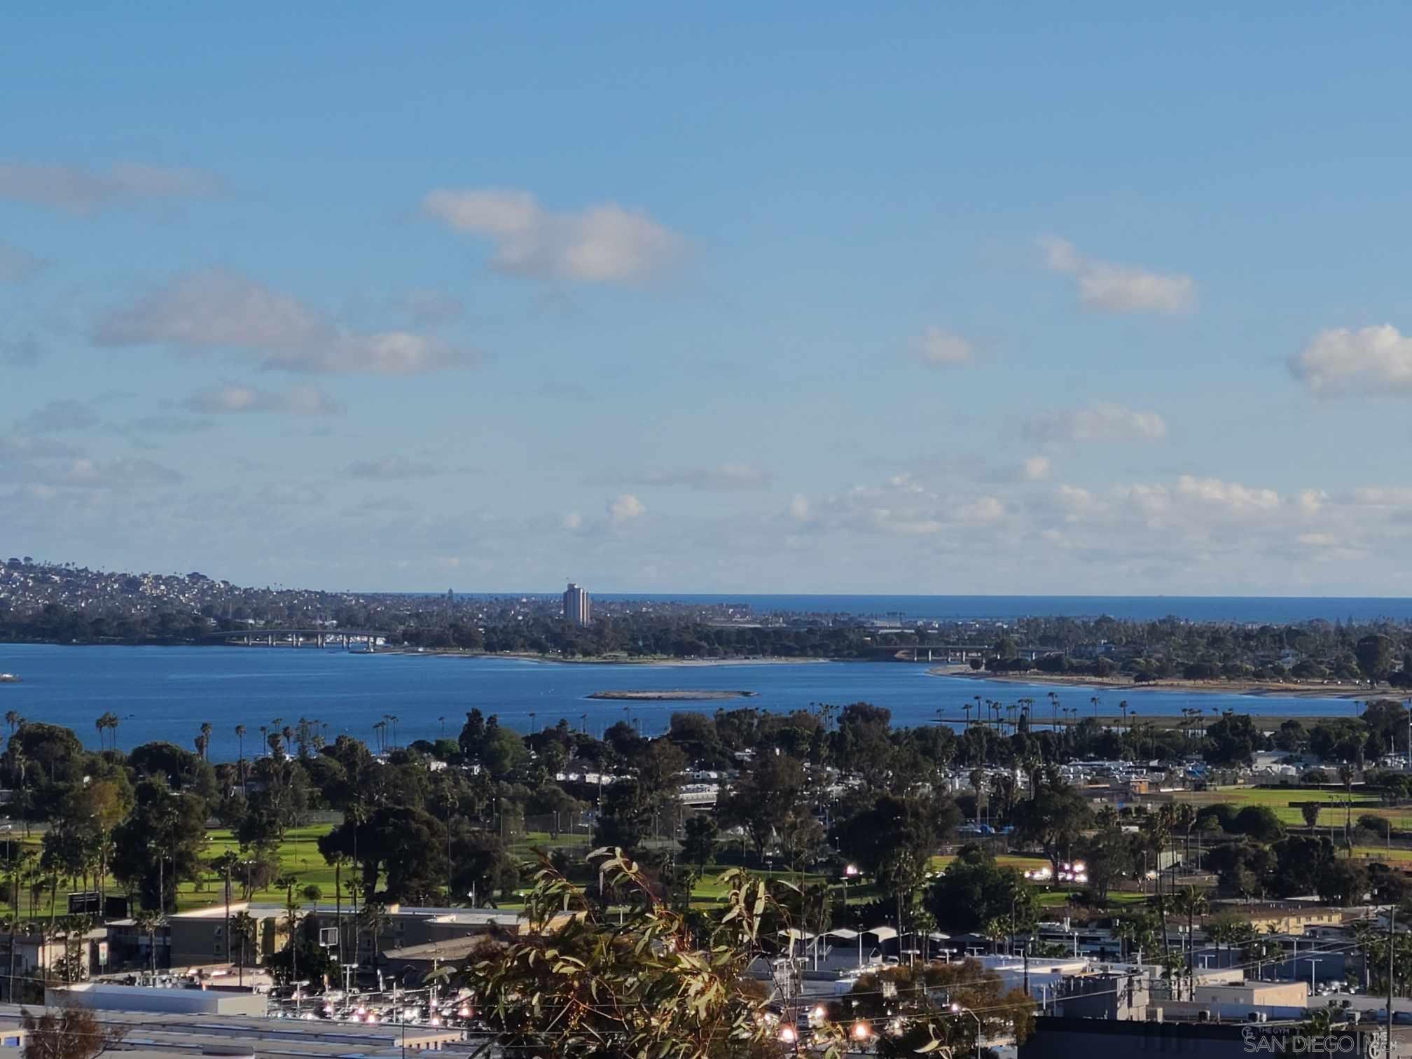
<path id="1" fill-rule="evenodd" d="M 0 549 L 1408 594 L 1409 21 L 11 14 Z"/>

